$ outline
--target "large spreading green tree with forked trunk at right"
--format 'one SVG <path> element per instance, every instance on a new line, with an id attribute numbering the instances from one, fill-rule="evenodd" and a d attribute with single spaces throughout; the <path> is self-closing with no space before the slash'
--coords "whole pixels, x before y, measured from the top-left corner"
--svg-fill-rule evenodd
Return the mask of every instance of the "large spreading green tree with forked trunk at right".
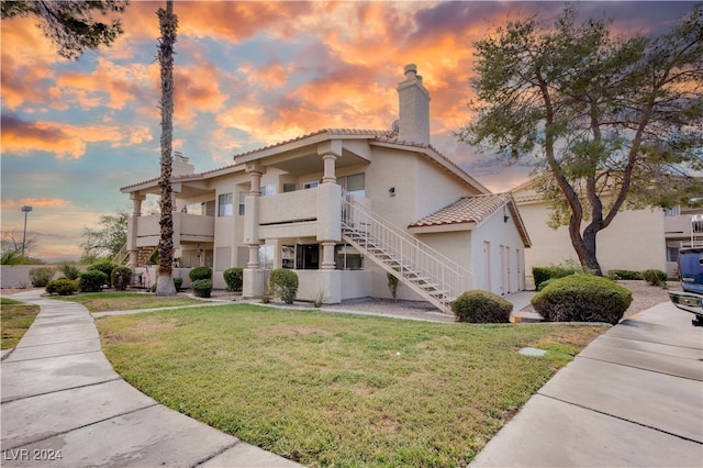
<path id="1" fill-rule="evenodd" d="M 505 164 L 535 160 L 550 225 L 567 225 L 581 265 L 602 275 L 596 235 L 624 208 L 701 192 L 703 9 L 658 37 L 616 36 L 605 20 L 551 27 L 536 15 L 476 43 L 475 120 L 461 142 Z"/>

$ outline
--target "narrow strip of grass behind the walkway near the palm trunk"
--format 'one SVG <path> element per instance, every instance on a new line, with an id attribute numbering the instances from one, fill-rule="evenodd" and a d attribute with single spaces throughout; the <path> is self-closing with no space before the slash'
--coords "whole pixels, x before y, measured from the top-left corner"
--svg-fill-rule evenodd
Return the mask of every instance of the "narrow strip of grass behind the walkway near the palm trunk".
<path id="1" fill-rule="evenodd" d="M 177 305 L 193 305 L 199 301 L 181 296 L 164 297 L 143 292 L 94 292 L 87 294 L 52 297 L 62 301 L 83 304 L 90 312 L 129 311 L 137 309 L 159 309 Z"/>

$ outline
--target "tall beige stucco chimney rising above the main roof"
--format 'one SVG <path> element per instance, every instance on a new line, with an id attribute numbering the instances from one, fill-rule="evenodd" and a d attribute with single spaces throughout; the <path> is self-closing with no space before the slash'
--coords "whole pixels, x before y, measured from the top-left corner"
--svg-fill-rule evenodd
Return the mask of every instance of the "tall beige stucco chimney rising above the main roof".
<path id="1" fill-rule="evenodd" d="M 405 65 L 405 80 L 398 83 L 399 140 L 429 144 L 429 92 L 415 64 Z"/>

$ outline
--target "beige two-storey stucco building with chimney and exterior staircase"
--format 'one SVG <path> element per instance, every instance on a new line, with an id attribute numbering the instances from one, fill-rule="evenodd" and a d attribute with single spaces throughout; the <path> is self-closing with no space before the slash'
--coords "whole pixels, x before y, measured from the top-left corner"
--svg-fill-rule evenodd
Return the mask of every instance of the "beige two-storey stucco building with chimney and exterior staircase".
<path id="1" fill-rule="evenodd" d="M 177 155 L 180 266 L 212 266 L 220 288 L 224 270 L 245 268 L 245 297 L 259 296 L 266 271 L 293 268 L 298 298 L 328 303 L 390 297 L 387 272 L 402 281 L 399 298 L 443 310 L 468 289 L 524 289 L 529 238 L 512 197 L 491 193 L 429 144 L 429 93 L 414 65 L 398 92 L 393 131 L 321 130 L 202 174 Z M 157 182 L 121 189 L 134 202 L 129 265 L 142 280 L 159 229 L 142 202 Z"/>

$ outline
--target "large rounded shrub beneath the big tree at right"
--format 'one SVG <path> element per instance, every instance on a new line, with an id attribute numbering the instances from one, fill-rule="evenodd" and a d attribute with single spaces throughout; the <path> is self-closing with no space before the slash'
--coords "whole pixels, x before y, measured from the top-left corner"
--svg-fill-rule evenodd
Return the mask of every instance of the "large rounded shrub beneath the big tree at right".
<path id="1" fill-rule="evenodd" d="M 555 280 L 532 299 L 549 322 L 607 322 L 616 324 L 633 294 L 607 278 L 572 275 Z"/>

